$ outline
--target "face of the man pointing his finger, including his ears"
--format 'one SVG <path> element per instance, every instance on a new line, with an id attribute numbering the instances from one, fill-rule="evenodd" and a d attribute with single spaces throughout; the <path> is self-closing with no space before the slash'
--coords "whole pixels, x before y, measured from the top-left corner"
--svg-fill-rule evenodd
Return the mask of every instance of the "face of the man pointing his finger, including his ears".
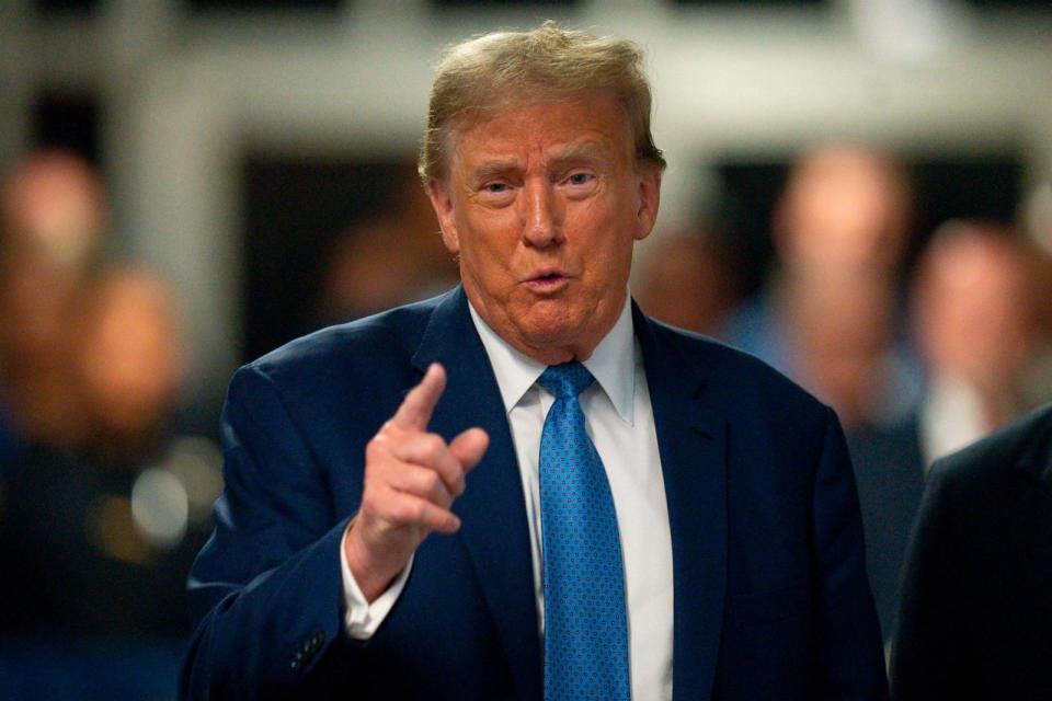
<path id="1" fill-rule="evenodd" d="M 607 96 L 510 107 L 455 131 L 432 204 L 476 310 L 547 364 L 585 359 L 625 302 L 661 173 Z"/>

